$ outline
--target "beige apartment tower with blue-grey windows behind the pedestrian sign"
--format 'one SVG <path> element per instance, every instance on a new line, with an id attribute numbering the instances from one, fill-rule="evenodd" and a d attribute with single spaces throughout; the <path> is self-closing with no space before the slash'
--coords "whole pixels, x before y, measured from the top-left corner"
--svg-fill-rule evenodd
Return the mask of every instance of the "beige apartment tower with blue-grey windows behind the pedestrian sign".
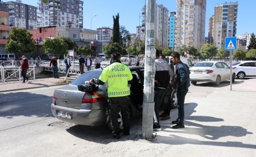
<path id="1" fill-rule="evenodd" d="M 225 38 L 236 36 L 238 3 L 222 3 L 214 7 L 213 44 L 225 48 Z"/>

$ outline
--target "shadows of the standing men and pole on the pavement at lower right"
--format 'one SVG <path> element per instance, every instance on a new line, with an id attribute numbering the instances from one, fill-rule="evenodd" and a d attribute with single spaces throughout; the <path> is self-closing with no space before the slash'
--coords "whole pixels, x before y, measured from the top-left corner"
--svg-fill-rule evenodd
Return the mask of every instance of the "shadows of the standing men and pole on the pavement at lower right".
<path id="1" fill-rule="evenodd" d="M 157 135 L 159 143 L 165 144 L 198 144 L 198 145 L 212 145 L 212 146 L 227 146 L 227 147 L 239 147 L 239 148 L 253 148 L 256 149 L 256 145 L 253 144 L 243 144 L 242 142 L 216 142 L 216 141 L 200 141 L 197 139 L 190 139 L 186 137 L 181 137 L 175 135 L 175 133 L 184 133 L 188 135 L 199 135 L 205 139 L 217 140 L 221 137 L 233 136 L 233 137 L 242 137 L 247 134 L 252 134 L 247 131 L 247 129 L 241 126 L 207 126 L 196 123 L 198 122 L 219 122 L 224 121 L 216 117 L 209 116 L 193 116 L 192 113 L 196 112 L 195 108 L 197 107 L 196 103 L 187 104 L 185 108 L 185 127 L 184 129 L 175 130 L 170 128 L 170 126 L 162 126 L 163 131 L 170 132 L 168 137 Z M 189 120 L 189 121 L 188 121 Z M 192 122 L 194 120 L 195 122 Z M 192 127 L 190 127 L 192 126 Z M 161 142 L 160 142 L 161 141 Z"/>

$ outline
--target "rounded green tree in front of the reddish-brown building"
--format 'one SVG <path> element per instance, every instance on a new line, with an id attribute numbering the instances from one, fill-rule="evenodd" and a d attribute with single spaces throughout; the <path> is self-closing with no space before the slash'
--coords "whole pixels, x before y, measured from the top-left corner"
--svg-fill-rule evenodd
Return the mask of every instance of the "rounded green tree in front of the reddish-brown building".
<path id="1" fill-rule="evenodd" d="M 53 38 L 46 40 L 43 42 L 43 47 L 45 49 L 45 53 L 53 53 L 53 54 L 66 54 L 68 50 L 68 44 L 64 41 L 63 38 Z"/>

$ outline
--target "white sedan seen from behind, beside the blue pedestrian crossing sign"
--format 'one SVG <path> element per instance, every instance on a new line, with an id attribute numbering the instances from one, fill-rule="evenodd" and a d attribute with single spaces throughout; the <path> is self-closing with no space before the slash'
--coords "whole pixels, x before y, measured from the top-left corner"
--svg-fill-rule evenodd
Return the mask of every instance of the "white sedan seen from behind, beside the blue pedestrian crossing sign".
<path id="1" fill-rule="evenodd" d="M 189 70 L 190 81 L 193 85 L 197 82 L 213 82 L 215 86 L 219 86 L 220 82 L 230 80 L 230 68 L 224 62 L 199 62 Z M 232 82 L 235 78 L 236 74 L 232 70 Z"/>

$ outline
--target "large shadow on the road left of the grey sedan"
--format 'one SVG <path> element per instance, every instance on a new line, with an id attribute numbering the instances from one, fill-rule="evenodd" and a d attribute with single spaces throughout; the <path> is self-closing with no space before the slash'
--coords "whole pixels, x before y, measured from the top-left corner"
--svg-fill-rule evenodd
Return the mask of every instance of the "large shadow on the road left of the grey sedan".
<path id="1" fill-rule="evenodd" d="M 26 86 L 25 86 L 26 87 Z M 15 116 L 53 117 L 52 97 L 30 92 L 0 93 L 0 117 Z"/>

